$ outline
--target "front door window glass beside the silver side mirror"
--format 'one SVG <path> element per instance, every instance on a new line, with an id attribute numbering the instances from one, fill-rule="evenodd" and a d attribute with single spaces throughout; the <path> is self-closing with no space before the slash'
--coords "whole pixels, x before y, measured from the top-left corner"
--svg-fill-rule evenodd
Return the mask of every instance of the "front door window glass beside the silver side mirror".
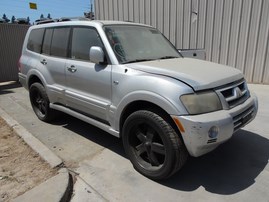
<path id="1" fill-rule="evenodd" d="M 101 39 L 95 29 L 73 28 L 71 57 L 73 59 L 89 60 L 89 50 L 92 46 L 103 47 Z"/>

